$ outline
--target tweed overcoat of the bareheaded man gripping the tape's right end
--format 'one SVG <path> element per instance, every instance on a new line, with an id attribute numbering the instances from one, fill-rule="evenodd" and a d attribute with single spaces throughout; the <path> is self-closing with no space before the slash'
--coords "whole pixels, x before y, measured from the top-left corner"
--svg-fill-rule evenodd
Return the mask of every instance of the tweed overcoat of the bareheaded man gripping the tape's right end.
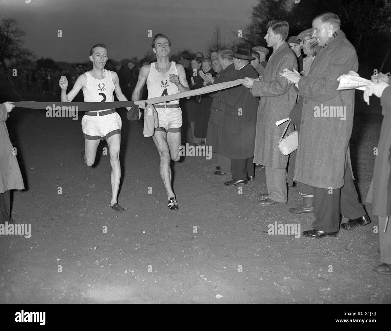
<path id="1" fill-rule="evenodd" d="M 256 140 L 254 163 L 271 168 L 286 168 L 288 156 L 278 149 L 280 139 L 287 123 L 276 126 L 276 121 L 289 117 L 297 94 L 292 84 L 280 76 L 285 68 L 297 70 L 296 55 L 283 43 L 272 56 L 265 68 L 261 81 L 254 81 L 251 92 L 260 96 L 256 118 Z M 288 130 L 287 134 L 291 132 Z"/>

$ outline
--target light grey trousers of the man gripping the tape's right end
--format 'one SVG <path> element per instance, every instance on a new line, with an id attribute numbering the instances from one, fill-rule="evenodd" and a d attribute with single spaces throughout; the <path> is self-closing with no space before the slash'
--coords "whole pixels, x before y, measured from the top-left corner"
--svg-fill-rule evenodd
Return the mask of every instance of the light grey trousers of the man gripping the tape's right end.
<path id="1" fill-rule="evenodd" d="M 287 202 L 287 170 L 265 166 L 266 186 L 269 199 Z"/>

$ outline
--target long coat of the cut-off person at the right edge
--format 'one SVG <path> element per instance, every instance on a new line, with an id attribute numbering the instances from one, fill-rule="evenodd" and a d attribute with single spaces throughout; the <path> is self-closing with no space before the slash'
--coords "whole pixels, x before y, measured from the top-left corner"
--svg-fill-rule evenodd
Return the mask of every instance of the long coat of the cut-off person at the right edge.
<path id="1" fill-rule="evenodd" d="M 387 217 L 387 203 L 391 199 L 391 194 L 387 192 L 387 184 L 390 172 L 390 148 L 391 148 L 391 86 L 384 89 L 380 99 L 383 106 L 382 114 L 384 116 L 380 138 L 377 144 L 377 156 L 373 168 L 373 179 L 369 187 L 367 203 L 373 206 L 373 214 L 381 217 Z M 383 229 L 381 230 L 383 231 Z"/>

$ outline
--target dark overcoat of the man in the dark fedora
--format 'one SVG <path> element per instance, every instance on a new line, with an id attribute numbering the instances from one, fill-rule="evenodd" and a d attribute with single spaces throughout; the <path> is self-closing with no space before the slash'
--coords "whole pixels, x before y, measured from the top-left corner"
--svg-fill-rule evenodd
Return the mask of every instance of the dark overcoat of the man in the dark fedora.
<path id="1" fill-rule="evenodd" d="M 236 72 L 233 80 L 245 77 L 258 78 L 258 73 L 247 64 Z M 253 157 L 259 98 L 254 97 L 248 88 L 239 85 L 221 93 L 219 101 L 224 105 L 219 154 L 230 159 Z"/>

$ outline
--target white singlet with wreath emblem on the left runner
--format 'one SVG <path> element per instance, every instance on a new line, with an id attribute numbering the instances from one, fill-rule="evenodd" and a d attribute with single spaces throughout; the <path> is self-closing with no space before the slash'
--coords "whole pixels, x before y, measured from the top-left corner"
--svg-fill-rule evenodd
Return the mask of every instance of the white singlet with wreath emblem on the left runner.
<path id="1" fill-rule="evenodd" d="M 114 101 L 115 86 L 111 79 L 111 71 L 106 71 L 104 79 L 95 79 L 90 72 L 86 72 L 87 85 L 83 89 L 84 102 L 111 102 Z M 110 109 L 110 108 L 108 108 Z M 104 111 L 108 109 L 102 109 Z"/>

